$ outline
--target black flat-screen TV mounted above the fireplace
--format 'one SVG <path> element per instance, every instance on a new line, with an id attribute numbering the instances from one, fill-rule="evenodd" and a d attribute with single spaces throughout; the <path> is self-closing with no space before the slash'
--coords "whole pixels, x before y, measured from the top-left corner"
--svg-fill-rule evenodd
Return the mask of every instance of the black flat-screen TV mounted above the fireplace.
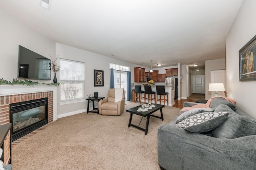
<path id="1" fill-rule="evenodd" d="M 51 80 L 51 60 L 19 45 L 18 78 Z"/>

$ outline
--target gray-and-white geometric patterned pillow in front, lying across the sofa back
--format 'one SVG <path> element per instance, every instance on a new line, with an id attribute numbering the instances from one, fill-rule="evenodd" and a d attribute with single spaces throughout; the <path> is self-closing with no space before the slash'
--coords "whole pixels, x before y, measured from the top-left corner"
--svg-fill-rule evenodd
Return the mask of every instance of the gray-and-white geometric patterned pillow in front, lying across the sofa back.
<path id="1" fill-rule="evenodd" d="M 228 112 L 203 112 L 192 115 L 175 126 L 190 132 L 203 133 L 220 126 L 227 117 Z"/>

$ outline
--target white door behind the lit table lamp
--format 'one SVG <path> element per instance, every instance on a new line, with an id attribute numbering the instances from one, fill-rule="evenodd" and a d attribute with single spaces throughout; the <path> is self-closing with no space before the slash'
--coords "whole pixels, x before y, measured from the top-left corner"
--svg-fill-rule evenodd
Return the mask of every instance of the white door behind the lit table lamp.
<path id="1" fill-rule="evenodd" d="M 226 70 L 211 70 L 211 83 L 223 83 L 226 90 Z M 211 92 L 214 96 L 214 92 Z M 218 92 L 218 96 L 225 96 L 224 92 Z"/>

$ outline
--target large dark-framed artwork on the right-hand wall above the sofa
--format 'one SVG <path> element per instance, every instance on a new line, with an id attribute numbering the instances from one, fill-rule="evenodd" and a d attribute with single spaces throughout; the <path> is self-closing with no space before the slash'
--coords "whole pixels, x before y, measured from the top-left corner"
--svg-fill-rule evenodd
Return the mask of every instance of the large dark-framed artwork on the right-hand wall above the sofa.
<path id="1" fill-rule="evenodd" d="M 256 80 L 256 35 L 239 50 L 239 81 Z"/>

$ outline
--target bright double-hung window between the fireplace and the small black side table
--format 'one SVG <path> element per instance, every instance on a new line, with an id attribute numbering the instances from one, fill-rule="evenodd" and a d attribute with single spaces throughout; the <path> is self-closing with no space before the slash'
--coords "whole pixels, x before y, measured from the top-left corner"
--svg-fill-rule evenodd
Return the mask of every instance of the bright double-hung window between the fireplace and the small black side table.
<path id="1" fill-rule="evenodd" d="M 60 100 L 84 99 L 84 63 L 60 59 Z"/>

